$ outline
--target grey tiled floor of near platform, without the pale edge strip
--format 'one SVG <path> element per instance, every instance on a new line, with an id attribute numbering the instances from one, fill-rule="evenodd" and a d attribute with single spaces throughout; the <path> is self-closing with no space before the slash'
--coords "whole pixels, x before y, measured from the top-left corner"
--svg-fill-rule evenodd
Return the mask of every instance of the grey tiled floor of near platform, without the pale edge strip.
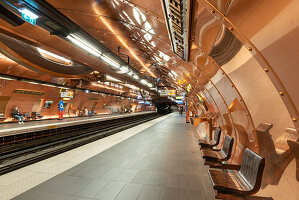
<path id="1" fill-rule="evenodd" d="M 209 200 L 193 128 L 172 114 L 15 200 Z"/>

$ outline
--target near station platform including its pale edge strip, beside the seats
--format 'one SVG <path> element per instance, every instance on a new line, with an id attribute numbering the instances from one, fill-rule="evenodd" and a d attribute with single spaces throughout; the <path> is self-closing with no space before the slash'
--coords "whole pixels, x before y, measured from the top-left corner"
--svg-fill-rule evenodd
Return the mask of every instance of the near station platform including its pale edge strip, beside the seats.
<path id="1" fill-rule="evenodd" d="M 0 176 L 0 194 L 3 200 L 214 199 L 193 127 L 178 113 Z"/>

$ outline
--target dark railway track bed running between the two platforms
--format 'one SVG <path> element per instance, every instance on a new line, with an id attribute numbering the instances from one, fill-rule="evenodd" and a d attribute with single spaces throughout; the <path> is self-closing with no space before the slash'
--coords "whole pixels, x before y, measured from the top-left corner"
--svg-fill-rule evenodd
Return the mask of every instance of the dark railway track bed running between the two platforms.
<path id="1" fill-rule="evenodd" d="M 46 158 L 69 151 L 79 146 L 113 135 L 128 128 L 160 117 L 160 114 L 151 113 L 125 118 L 110 119 L 93 122 L 88 126 L 81 126 L 72 131 L 72 127 L 59 134 L 48 130 L 42 137 L 27 137 L 28 140 L 15 140 L 15 143 L 1 145 L 0 175 L 25 167 Z M 31 135 L 30 133 L 26 133 Z"/>

